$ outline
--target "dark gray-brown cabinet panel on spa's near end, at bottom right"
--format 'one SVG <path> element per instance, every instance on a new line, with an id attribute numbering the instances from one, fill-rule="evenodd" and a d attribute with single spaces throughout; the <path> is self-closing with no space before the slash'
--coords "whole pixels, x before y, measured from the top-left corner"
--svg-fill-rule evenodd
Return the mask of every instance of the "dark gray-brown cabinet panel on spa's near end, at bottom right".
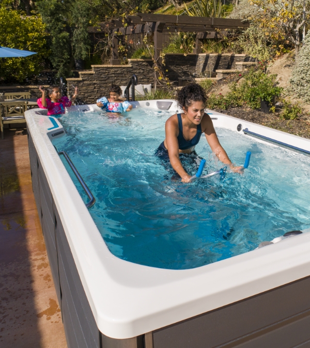
<path id="1" fill-rule="evenodd" d="M 310 347 L 309 293 L 303 278 L 155 330 L 146 348 Z"/>

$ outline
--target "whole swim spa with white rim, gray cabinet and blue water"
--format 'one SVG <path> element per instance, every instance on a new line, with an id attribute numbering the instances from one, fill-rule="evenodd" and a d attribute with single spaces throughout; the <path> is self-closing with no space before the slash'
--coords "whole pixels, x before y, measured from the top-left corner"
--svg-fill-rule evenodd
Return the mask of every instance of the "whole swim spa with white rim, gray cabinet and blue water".
<path id="1" fill-rule="evenodd" d="M 169 110 L 162 101 L 135 102 L 121 119 L 96 106 L 68 108 L 61 122 L 44 110 L 26 113 L 33 191 L 68 345 L 306 347 L 309 158 L 299 150 L 310 151 L 310 141 L 210 111 L 233 162 L 242 165 L 250 150 L 250 166 L 226 182 L 181 184 L 154 156 L 164 137 L 158 129 L 177 109 L 167 103 Z M 93 141 L 98 133 L 101 143 Z M 54 146 L 89 187 L 90 209 Z M 204 139 L 196 150 L 205 172 L 221 167 Z M 185 165 L 194 174 L 199 162 Z M 304 233 L 276 242 L 294 229 Z"/>

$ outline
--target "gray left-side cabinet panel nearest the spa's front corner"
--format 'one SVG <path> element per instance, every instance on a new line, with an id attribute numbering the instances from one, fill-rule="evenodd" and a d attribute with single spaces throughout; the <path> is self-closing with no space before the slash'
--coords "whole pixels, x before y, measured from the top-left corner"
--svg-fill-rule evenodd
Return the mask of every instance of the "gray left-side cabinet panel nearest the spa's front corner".
<path id="1" fill-rule="evenodd" d="M 62 292 L 62 318 L 67 344 L 70 348 L 99 348 L 99 330 L 55 206 L 54 211 Z"/>

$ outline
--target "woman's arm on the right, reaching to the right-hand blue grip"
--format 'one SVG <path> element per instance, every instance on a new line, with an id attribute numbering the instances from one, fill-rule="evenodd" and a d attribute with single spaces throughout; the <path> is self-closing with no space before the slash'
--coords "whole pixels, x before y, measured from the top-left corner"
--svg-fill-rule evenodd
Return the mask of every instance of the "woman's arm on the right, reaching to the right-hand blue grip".
<path id="1" fill-rule="evenodd" d="M 233 171 L 240 171 L 242 169 L 242 166 L 238 166 L 238 167 L 233 166 L 232 161 L 229 159 L 226 151 L 223 149 L 223 147 L 218 141 L 217 133 L 214 129 L 210 116 L 209 115 L 205 116 L 205 115 L 207 114 L 204 114 L 204 117 L 203 117 L 202 131 L 204 129 L 204 135 L 207 139 L 208 144 L 210 145 L 212 152 L 216 154 L 217 158 L 221 162 L 230 166 L 230 168 Z"/>

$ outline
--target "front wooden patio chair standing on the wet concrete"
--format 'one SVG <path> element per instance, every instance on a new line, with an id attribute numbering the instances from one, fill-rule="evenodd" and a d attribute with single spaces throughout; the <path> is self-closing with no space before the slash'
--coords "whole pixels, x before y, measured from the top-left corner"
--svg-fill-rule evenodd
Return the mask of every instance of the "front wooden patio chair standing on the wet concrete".
<path id="1" fill-rule="evenodd" d="M 1 138 L 3 139 L 3 124 L 9 123 L 26 123 L 25 111 L 27 110 L 27 102 L 1 102 L 0 129 Z"/>

